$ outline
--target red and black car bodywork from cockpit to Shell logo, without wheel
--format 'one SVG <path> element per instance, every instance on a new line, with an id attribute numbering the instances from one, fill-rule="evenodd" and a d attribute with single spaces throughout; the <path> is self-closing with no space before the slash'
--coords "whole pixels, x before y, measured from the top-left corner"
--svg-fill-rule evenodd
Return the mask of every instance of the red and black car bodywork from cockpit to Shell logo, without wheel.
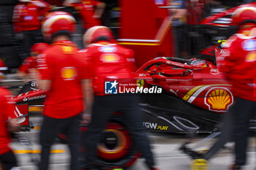
<path id="1" fill-rule="evenodd" d="M 137 71 L 144 86 L 162 88 L 143 95 L 144 125 L 152 131 L 211 133 L 235 98 L 215 61 L 155 58 Z"/>

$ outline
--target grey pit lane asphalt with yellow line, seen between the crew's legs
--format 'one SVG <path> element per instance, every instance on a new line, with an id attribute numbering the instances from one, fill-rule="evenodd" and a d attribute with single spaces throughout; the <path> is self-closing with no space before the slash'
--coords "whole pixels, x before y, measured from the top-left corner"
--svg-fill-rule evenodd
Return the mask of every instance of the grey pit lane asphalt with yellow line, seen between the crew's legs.
<path id="1" fill-rule="evenodd" d="M 12 78 L 12 77 L 11 77 Z M 20 82 L 8 82 L 5 85 L 20 85 Z M 13 93 L 16 93 L 18 90 L 12 90 Z M 34 123 L 35 127 L 40 127 L 42 123 L 42 115 L 40 114 L 31 114 L 30 121 Z M 32 150 L 40 150 L 39 146 L 39 129 L 33 129 L 31 132 L 20 132 L 21 136 L 25 136 L 31 142 Z M 154 152 L 154 157 L 156 158 L 157 167 L 161 170 L 189 170 L 190 163 L 192 162 L 191 158 L 178 150 L 178 147 L 182 143 L 187 141 L 187 136 L 185 135 L 176 135 L 176 134 L 152 134 L 148 133 L 151 139 L 151 147 Z M 195 141 L 202 139 L 204 136 L 197 136 Z M 207 149 L 211 146 L 211 143 L 214 141 L 208 142 L 206 145 L 197 148 Z M 255 152 L 255 138 L 250 138 L 250 144 L 254 145 L 249 147 L 248 150 L 248 165 L 245 170 L 255 170 L 256 164 L 256 152 Z M 232 144 L 227 144 L 228 147 L 225 150 L 219 152 L 214 158 L 209 162 L 210 170 L 225 170 L 233 161 L 232 154 Z M 15 152 L 25 152 L 26 149 L 15 139 L 11 147 Z M 56 169 L 69 169 L 69 150 L 66 144 L 63 144 L 58 139 L 53 144 L 52 150 L 56 153 L 50 155 L 50 170 Z M 29 154 L 27 153 L 17 153 L 15 154 L 18 158 L 20 167 L 23 170 L 36 170 L 37 167 L 34 166 L 34 163 L 31 162 Z M 134 166 L 129 168 L 130 170 L 146 170 L 146 166 L 143 163 L 143 160 L 138 160 Z"/>

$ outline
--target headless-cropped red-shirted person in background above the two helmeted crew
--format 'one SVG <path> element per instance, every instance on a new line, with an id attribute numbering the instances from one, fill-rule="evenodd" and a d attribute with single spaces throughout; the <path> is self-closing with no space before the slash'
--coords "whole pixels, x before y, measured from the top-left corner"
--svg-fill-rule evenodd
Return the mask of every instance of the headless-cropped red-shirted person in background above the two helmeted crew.
<path id="1" fill-rule="evenodd" d="M 99 18 L 95 18 L 95 9 L 97 1 L 94 0 L 80 0 L 80 3 L 65 3 L 65 6 L 72 6 L 78 10 L 80 18 L 83 20 L 83 28 L 85 31 L 92 26 L 101 26 Z"/>

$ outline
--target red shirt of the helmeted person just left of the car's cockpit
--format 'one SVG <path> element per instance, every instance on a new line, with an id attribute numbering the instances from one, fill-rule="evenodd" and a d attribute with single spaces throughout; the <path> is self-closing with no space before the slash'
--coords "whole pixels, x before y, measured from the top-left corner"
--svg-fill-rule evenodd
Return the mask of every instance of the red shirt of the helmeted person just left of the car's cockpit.
<path id="1" fill-rule="evenodd" d="M 91 57 L 91 56 L 94 57 Z M 97 43 L 86 47 L 86 69 L 94 84 L 94 94 L 104 96 L 105 80 L 129 81 L 134 77 L 134 52 L 128 48 L 99 37 Z"/>

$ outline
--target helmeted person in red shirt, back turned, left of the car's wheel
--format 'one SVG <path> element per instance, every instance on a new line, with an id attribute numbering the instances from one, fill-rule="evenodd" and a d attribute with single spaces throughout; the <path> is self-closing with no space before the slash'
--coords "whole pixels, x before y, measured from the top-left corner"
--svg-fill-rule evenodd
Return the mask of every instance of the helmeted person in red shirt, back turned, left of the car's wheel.
<path id="1" fill-rule="evenodd" d="M 39 55 L 39 88 L 47 91 L 43 123 L 40 170 L 48 169 L 50 146 L 57 134 L 67 132 L 71 155 L 70 169 L 78 169 L 79 119 L 83 112 L 83 62 L 78 47 L 69 40 L 75 31 L 75 18 L 67 12 L 51 12 L 42 25 L 42 34 L 53 42 Z"/>

